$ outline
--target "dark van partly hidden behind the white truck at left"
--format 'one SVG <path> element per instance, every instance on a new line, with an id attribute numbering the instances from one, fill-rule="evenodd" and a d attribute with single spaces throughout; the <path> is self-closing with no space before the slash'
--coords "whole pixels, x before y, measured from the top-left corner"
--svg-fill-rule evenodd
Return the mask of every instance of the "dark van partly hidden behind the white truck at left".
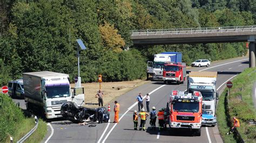
<path id="1" fill-rule="evenodd" d="M 8 83 L 8 94 L 12 98 L 19 97 L 19 98 L 24 99 L 23 79 L 10 81 Z"/>

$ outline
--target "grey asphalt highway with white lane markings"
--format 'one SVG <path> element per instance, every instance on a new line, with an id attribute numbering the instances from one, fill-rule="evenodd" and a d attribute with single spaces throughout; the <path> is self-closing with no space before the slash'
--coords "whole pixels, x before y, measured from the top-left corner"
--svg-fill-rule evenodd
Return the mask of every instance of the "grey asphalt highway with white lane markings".
<path id="1" fill-rule="evenodd" d="M 219 62 L 213 62 L 210 67 L 192 67 L 188 71 L 218 71 L 217 88 L 219 95 L 226 87 L 225 83 L 248 68 L 248 57 L 234 58 Z M 56 120 L 49 123 L 48 133 L 42 142 L 222 142 L 218 126 L 202 127 L 201 136 L 193 137 L 187 130 L 180 130 L 176 133 L 170 131 L 150 130 L 149 119 L 146 121 L 146 131 L 134 131 L 132 114 L 138 110 L 136 97 L 139 92 L 143 95 L 150 94 L 150 108 L 156 109 L 166 107 L 169 95 L 172 90 L 184 91 L 187 82 L 184 84 L 164 84 L 163 82 L 152 81 L 137 87 L 116 100 L 120 103 L 119 124 L 113 121 L 113 103 L 111 103 L 111 123 L 97 124 L 96 127 L 78 124 L 64 124 L 63 120 Z M 16 102 L 22 102 L 16 100 Z M 21 103 L 23 104 L 23 103 Z M 144 106 L 145 106 L 144 101 Z M 158 124 L 158 121 L 157 121 Z"/>

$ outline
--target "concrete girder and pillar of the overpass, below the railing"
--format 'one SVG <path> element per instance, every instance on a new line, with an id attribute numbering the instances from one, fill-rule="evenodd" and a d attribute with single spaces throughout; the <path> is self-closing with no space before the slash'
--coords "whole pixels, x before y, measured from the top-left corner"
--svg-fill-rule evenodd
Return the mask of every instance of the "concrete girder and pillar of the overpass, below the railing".
<path id="1" fill-rule="evenodd" d="M 250 42 L 250 67 L 255 67 L 256 31 L 244 33 L 176 34 L 176 35 L 132 35 L 134 46 L 199 44 L 219 42 Z"/>

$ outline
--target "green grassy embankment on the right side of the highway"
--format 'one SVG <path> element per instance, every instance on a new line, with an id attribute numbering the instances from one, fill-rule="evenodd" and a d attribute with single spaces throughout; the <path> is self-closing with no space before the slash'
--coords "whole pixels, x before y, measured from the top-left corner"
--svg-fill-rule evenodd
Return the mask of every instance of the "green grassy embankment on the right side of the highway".
<path id="1" fill-rule="evenodd" d="M 231 89 L 231 99 L 228 97 L 229 115 L 225 110 L 225 94 L 227 89 L 221 94 L 217 107 L 217 121 L 218 127 L 224 142 L 235 142 L 233 135 L 226 135 L 232 127 L 230 121 L 235 116 L 240 120 L 240 127 L 238 128 L 241 137 L 246 142 L 256 142 L 256 126 L 246 123 L 248 120 L 256 120 L 256 111 L 252 101 L 252 88 L 256 81 L 256 73 L 252 73 L 256 68 L 247 68 L 244 72 L 239 74 L 233 82 Z M 252 73 L 250 76 L 248 74 Z M 237 96 L 242 96 L 240 101 Z"/>

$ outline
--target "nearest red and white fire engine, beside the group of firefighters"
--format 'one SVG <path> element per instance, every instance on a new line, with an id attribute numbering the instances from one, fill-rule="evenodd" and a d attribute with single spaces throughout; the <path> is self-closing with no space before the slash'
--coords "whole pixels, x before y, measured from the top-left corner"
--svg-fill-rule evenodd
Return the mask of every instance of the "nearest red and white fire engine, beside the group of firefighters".
<path id="1" fill-rule="evenodd" d="M 169 126 L 171 130 L 187 128 L 197 136 L 201 135 L 203 97 L 201 92 L 193 94 L 173 90 L 170 96 Z"/>

